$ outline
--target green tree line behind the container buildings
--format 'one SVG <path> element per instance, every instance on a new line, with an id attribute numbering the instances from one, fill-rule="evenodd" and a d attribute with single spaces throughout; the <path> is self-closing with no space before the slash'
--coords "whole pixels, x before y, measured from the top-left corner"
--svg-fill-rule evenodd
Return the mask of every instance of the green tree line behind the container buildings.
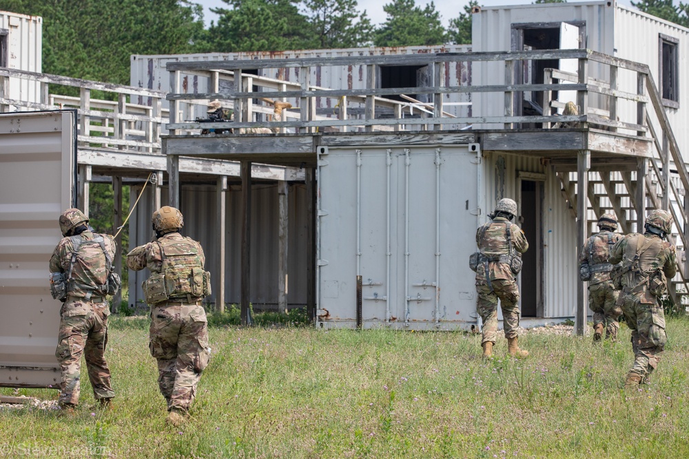
<path id="1" fill-rule="evenodd" d="M 471 43 L 471 0 L 442 25 L 431 1 L 391 0 L 373 25 L 357 0 L 223 0 L 205 27 L 192 0 L 0 0 L 0 10 L 43 17 L 43 72 L 130 82 L 132 54 L 285 51 L 361 46 Z M 536 0 L 560 3 L 564 0 Z M 689 6 L 632 2 L 641 11 L 689 27 Z"/>

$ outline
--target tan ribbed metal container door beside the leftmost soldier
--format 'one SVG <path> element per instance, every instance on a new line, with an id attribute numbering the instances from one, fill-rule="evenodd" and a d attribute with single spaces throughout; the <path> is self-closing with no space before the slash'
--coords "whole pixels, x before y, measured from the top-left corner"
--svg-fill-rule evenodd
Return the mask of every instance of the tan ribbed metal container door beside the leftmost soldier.
<path id="1" fill-rule="evenodd" d="M 75 200 L 74 111 L 0 114 L 0 386 L 56 387 L 48 262 Z"/>

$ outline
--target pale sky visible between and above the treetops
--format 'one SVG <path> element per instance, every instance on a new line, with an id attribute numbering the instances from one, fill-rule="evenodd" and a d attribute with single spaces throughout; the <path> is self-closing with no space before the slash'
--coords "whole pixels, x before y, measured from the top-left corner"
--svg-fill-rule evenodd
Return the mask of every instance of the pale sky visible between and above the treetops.
<path id="1" fill-rule="evenodd" d="M 210 8 L 227 8 L 227 3 L 223 0 L 192 0 L 196 3 L 203 5 L 203 19 L 206 25 L 209 25 L 211 21 L 217 21 L 218 16 L 210 11 Z M 576 1 L 576 0 L 570 0 Z M 368 17 L 374 24 L 380 24 L 387 19 L 387 14 L 383 11 L 383 6 L 392 3 L 392 0 L 358 0 L 359 10 L 366 10 Z M 416 0 L 418 6 L 425 6 L 429 1 Z M 460 15 L 460 12 L 464 11 L 464 5 L 469 4 L 469 0 L 435 0 L 435 10 L 440 12 L 442 17 L 443 25 L 447 26 L 450 19 L 454 19 Z M 502 6 L 502 5 L 520 5 L 524 3 L 533 3 L 532 1 L 520 1 L 520 0 L 483 0 L 478 2 L 481 6 Z M 618 3 L 622 3 L 626 6 L 630 6 L 630 0 L 621 0 Z"/>

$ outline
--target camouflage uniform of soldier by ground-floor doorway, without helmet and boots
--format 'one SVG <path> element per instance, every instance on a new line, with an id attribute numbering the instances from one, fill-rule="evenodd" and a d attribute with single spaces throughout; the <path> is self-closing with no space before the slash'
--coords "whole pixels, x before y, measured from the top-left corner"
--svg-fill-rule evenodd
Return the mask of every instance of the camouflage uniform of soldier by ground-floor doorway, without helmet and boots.
<path id="1" fill-rule="evenodd" d="M 504 217 L 495 217 L 476 230 L 476 244 L 484 257 L 497 258 L 508 255 L 507 228 L 512 245 L 518 253 L 528 249 L 528 242 L 521 228 Z M 486 268 L 487 273 L 486 273 Z M 484 261 L 476 269 L 477 312 L 483 320 L 482 343 L 495 344 L 497 335 L 497 300 L 500 299 L 504 320 L 505 337 L 516 338 L 519 329 L 519 288 L 510 265 L 503 261 Z"/>

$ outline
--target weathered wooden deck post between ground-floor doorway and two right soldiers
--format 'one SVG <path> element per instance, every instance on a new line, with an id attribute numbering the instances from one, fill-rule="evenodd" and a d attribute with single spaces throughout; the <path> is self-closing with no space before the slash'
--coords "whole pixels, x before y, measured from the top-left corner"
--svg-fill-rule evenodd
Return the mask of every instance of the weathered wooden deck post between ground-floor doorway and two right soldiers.
<path id="1" fill-rule="evenodd" d="M 581 254 L 586 235 L 588 234 L 588 171 L 591 168 L 591 152 L 579 151 L 577 156 L 577 259 Z M 582 336 L 586 330 L 586 308 L 588 306 L 588 291 L 584 281 L 577 281 L 577 311 L 575 315 L 575 332 Z"/>

